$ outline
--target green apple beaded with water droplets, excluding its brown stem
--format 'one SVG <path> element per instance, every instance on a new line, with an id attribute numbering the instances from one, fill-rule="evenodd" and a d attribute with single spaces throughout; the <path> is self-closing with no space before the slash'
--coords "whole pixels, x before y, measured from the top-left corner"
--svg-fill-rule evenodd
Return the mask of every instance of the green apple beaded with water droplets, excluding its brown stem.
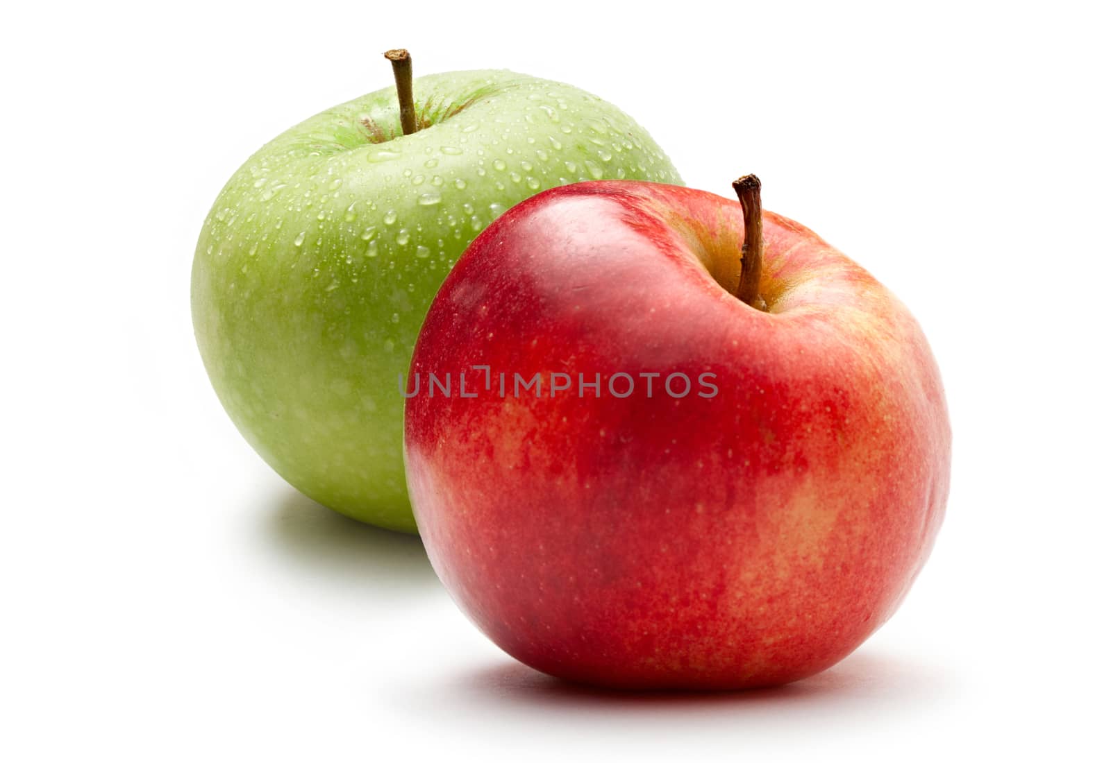
<path id="1" fill-rule="evenodd" d="M 252 447 L 344 515 L 416 531 L 399 376 L 467 245 L 503 211 L 584 180 L 680 183 L 648 133 L 577 88 L 509 71 L 412 82 L 403 135 L 387 88 L 264 145 L 204 221 L 197 343 Z"/>

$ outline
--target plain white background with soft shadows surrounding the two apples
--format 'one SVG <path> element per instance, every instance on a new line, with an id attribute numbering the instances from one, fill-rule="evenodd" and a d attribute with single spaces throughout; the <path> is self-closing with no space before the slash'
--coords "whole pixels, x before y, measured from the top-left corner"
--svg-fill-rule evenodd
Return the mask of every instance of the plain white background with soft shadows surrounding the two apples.
<path id="1" fill-rule="evenodd" d="M 1105 11 L 1097 3 L 83 3 L 3 12 L 0 756 L 760 760 L 1107 754 Z M 169 10 L 172 9 L 172 10 Z M 688 184 L 909 304 L 949 515 L 899 614 L 775 691 L 638 696 L 514 663 L 419 541 L 298 496 L 192 340 L 189 268 L 264 141 L 418 73 L 632 113 Z"/>

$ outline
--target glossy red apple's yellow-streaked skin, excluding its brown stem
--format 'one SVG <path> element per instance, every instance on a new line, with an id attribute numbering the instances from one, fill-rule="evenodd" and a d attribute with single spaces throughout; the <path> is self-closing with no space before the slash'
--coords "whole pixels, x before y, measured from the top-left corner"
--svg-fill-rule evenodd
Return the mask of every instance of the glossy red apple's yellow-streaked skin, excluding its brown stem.
<path id="1" fill-rule="evenodd" d="M 441 580 L 518 660 L 621 689 L 782 684 L 855 649 L 924 563 L 951 441 L 925 337 L 813 232 L 764 212 L 763 234 L 767 313 L 727 291 L 737 201 L 580 183 L 499 218 L 433 302 L 410 496 Z M 414 386 L 473 365 L 601 373 L 602 397 Z M 619 372 L 719 393 L 618 399 Z"/>

